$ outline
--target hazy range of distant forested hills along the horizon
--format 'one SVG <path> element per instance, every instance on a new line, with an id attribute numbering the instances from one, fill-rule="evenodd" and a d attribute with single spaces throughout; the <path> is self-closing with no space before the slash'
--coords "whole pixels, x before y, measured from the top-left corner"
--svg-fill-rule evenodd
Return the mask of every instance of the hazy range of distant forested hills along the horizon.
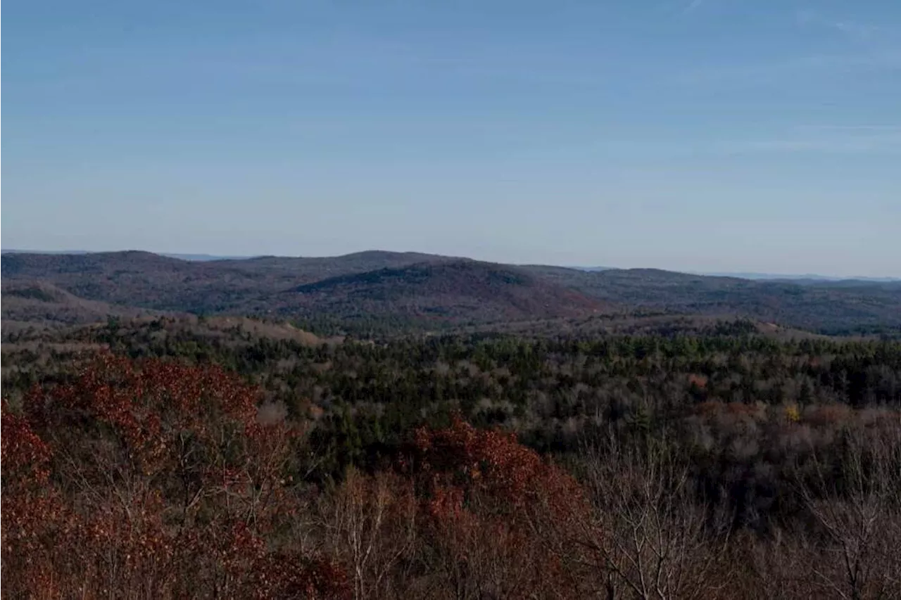
<path id="1" fill-rule="evenodd" d="M 27 310 L 21 297 L 0 296 L 6 320 L 53 322 L 64 312 L 64 321 L 89 322 L 105 310 L 151 309 L 433 328 L 650 311 L 748 317 L 830 334 L 901 331 L 901 285 L 893 283 L 812 285 L 656 269 L 514 267 L 385 251 L 203 262 L 140 251 L 0 254 L 0 282 L 25 281 L 67 296 L 29 298 Z"/>

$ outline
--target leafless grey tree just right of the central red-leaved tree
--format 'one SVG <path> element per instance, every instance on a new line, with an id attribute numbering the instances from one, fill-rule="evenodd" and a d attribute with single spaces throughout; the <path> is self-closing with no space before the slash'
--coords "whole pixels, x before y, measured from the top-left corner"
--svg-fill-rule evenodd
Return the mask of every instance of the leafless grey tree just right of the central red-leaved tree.
<path id="1" fill-rule="evenodd" d="M 611 439 L 589 454 L 596 523 L 585 543 L 603 559 L 608 598 L 710 598 L 727 578 L 717 571 L 724 528 L 692 497 L 687 468 L 665 448 Z"/>

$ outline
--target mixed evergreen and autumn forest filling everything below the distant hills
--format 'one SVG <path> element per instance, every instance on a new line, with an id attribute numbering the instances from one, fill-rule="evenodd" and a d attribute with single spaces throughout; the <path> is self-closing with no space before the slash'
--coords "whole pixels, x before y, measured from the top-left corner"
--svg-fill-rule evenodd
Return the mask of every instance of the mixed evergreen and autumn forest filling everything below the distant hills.
<path id="1" fill-rule="evenodd" d="M 8 332 L 0 587 L 901 597 L 901 343 L 640 325 Z"/>

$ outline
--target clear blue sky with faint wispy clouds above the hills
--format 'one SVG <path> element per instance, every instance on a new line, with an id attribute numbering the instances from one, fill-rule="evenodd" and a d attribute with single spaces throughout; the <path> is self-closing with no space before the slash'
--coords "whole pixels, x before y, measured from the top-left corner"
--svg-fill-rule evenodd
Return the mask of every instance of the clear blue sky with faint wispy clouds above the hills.
<path id="1" fill-rule="evenodd" d="M 901 276 L 898 0 L 0 5 L 0 248 Z"/>

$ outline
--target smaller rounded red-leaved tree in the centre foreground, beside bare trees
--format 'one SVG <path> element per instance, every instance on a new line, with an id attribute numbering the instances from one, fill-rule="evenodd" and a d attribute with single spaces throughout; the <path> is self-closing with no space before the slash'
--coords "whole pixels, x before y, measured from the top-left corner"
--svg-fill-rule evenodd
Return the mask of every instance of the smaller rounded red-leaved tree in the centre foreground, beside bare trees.
<path id="1" fill-rule="evenodd" d="M 578 597 L 555 547 L 571 546 L 590 509 L 578 483 L 513 434 L 451 427 L 415 435 L 408 464 L 446 585 L 493 597 Z"/>

